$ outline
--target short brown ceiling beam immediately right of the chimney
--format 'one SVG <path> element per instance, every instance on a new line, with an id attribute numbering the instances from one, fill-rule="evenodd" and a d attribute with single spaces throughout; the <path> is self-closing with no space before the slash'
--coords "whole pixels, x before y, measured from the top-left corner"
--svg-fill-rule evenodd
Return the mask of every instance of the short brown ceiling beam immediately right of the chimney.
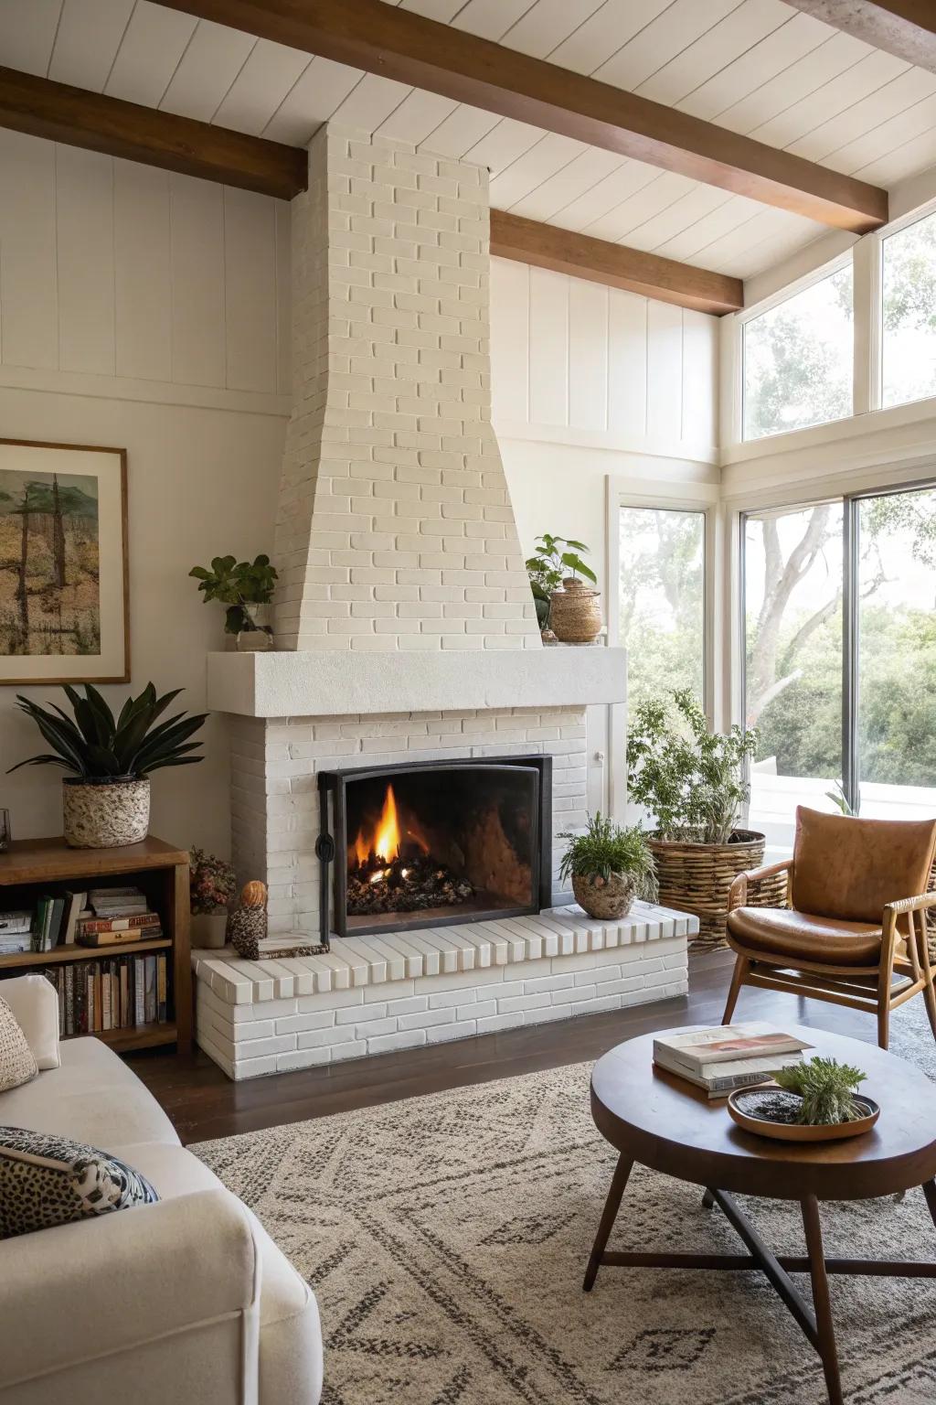
<path id="1" fill-rule="evenodd" d="M 501 209 L 491 211 L 491 253 L 716 316 L 744 306 L 740 278 L 661 259 L 640 249 L 624 249 L 554 225 L 540 225 Z"/>

